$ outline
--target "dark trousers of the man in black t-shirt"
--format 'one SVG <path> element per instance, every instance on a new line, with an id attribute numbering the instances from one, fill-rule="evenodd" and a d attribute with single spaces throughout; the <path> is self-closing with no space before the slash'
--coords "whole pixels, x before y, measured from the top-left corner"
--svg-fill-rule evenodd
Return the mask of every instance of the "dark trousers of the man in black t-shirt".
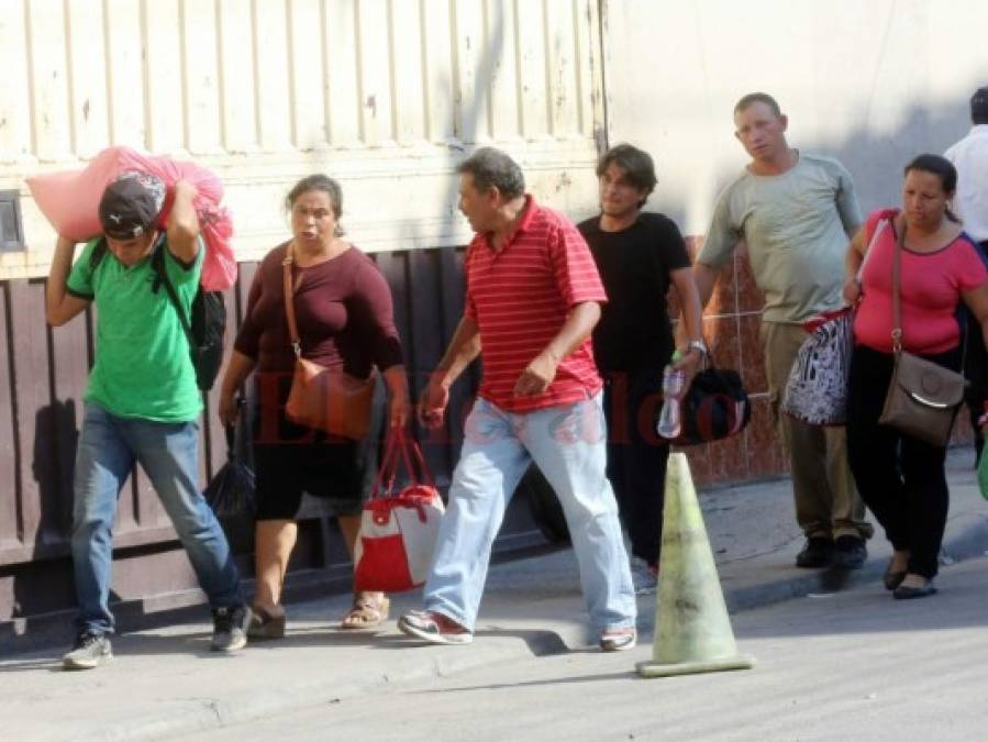
<path id="1" fill-rule="evenodd" d="M 655 432 L 662 369 L 604 372 L 608 479 L 614 488 L 631 553 L 658 563 L 669 446 Z"/>

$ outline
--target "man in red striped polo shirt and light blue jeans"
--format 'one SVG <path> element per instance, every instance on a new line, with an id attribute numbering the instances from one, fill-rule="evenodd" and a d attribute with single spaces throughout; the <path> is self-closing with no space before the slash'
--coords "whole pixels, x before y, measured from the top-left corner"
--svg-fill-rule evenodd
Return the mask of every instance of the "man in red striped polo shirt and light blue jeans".
<path id="1" fill-rule="evenodd" d="M 591 628 L 603 651 L 635 644 L 635 600 L 614 494 L 606 476 L 602 381 L 590 332 L 607 300 L 587 243 L 525 193 L 521 168 L 490 147 L 458 168 L 459 209 L 476 232 L 466 256 L 466 307 L 420 400 L 442 424 L 449 387 L 482 350 L 484 378 L 466 421 L 425 609 L 404 633 L 473 641 L 490 547 L 529 465 L 559 497 L 579 562 Z"/>

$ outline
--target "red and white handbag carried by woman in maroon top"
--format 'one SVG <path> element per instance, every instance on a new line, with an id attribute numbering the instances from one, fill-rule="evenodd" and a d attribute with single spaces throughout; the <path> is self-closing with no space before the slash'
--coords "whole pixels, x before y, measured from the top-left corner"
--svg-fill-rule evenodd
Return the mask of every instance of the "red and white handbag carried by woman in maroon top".
<path id="1" fill-rule="evenodd" d="M 404 461 L 410 481 L 395 492 L 399 457 Z M 419 466 L 418 475 L 412 458 Z M 354 546 L 354 589 L 401 593 L 423 585 L 443 512 L 443 500 L 419 444 L 403 430 L 392 430 L 360 516 L 360 533 Z"/>

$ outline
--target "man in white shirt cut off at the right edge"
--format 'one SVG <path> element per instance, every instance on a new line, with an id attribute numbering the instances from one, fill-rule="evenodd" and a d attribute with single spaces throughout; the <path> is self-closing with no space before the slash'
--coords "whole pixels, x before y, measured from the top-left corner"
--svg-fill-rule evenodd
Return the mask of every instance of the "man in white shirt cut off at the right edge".
<path id="1" fill-rule="evenodd" d="M 947 149 L 944 157 L 957 168 L 954 212 L 964 222 L 964 231 L 988 256 L 988 87 L 978 88 L 970 97 L 970 121 L 974 124 L 970 132 Z M 977 420 L 986 411 L 981 399 L 983 390 L 988 389 L 988 353 L 980 332 L 968 332 L 965 373 L 973 381 L 967 406 L 975 430 L 975 451 L 980 458 L 985 434 Z"/>

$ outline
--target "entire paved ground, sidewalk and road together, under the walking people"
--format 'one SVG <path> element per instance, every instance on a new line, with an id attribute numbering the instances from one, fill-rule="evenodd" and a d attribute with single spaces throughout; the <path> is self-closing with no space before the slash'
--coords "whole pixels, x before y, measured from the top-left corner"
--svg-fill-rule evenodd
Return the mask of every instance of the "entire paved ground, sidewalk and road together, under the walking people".
<path id="1" fill-rule="evenodd" d="M 379 632 L 336 629 L 345 595 L 290 605 L 286 639 L 231 657 L 209 651 L 204 609 L 115 636 L 113 661 L 96 671 L 63 672 L 62 645 L 2 655 L 0 740 L 977 740 L 963 724 L 988 687 L 978 656 L 988 507 L 970 458 L 950 457 L 945 549 L 957 563 L 941 595 L 912 605 L 879 588 L 889 553 L 880 536 L 861 571 L 796 568 L 802 539 L 787 480 L 702 492 L 741 649 L 758 660 L 752 672 L 633 676 L 650 653 L 652 596 L 639 599 L 642 646 L 588 651 L 576 560 L 557 550 L 491 569 L 467 647 L 414 646 L 398 633 L 397 616 L 420 605 L 408 593 L 393 596 Z M 944 724 L 935 735 L 933 720 Z"/>

